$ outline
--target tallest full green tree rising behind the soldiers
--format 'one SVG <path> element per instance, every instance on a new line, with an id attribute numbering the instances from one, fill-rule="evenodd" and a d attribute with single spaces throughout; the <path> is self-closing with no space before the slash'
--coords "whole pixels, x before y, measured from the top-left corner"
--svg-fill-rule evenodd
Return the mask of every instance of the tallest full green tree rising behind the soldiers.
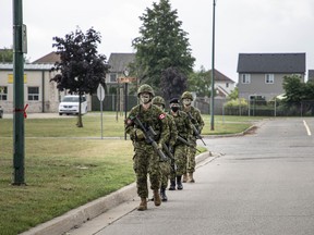
<path id="1" fill-rule="evenodd" d="M 141 70 L 140 83 L 150 84 L 160 89 L 160 76 L 168 67 L 176 67 L 188 76 L 193 71 L 195 59 L 191 55 L 188 33 L 181 29 L 177 10 L 171 10 L 169 0 L 154 2 L 140 16 L 143 25 L 140 37 L 132 41 L 135 53 L 135 66 Z M 169 82 L 169 86 L 171 82 Z"/>

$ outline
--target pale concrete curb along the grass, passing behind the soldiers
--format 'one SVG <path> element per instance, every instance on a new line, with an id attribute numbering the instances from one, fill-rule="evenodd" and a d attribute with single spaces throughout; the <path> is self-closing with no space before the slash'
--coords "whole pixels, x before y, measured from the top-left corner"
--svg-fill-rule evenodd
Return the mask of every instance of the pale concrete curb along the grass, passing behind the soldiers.
<path id="1" fill-rule="evenodd" d="M 219 154 L 213 154 L 210 151 L 203 152 L 195 158 L 196 166 L 202 161 L 213 158 L 214 160 Z M 110 195 L 90 201 L 77 209 L 71 210 L 65 214 L 55 218 L 46 223 L 39 224 L 20 235 L 60 235 L 67 234 L 72 228 L 78 227 L 87 221 L 105 213 L 106 211 L 137 197 L 136 183 L 132 183 Z"/>

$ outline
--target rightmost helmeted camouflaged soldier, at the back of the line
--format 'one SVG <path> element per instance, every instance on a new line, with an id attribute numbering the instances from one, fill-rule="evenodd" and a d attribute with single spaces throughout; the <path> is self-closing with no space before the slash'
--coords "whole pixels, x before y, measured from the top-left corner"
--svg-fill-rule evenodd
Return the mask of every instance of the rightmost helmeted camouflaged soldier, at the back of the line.
<path id="1" fill-rule="evenodd" d="M 201 134 L 205 123 L 202 119 L 201 111 L 192 106 L 193 96 L 189 91 L 184 91 L 181 96 L 182 102 L 183 102 L 183 111 L 188 113 L 192 124 L 198 129 L 198 133 Z M 195 172 L 195 156 L 196 156 L 196 136 L 193 135 L 191 138 L 191 143 L 193 144 L 193 147 L 189 147 L 188 151 L 188 165 L 186 165 L 186 172 L 188 175 L 183 175 L 183 182 L 194 183 L 195 180 L 193 177 L 193 173 Z"/>

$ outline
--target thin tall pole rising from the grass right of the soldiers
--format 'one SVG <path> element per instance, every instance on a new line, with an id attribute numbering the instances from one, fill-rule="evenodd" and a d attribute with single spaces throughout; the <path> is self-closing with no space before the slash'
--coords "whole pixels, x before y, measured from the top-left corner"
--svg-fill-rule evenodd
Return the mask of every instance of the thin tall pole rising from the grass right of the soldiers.
<path id="1" fill-rule="evenodd" d="M 216 1 L 213 0 L 213 49 L 212 49 L 212 99 L 210 99 L 210 131 L 214 131 L 214 101 L 215 101 L 215 8 Z"/>

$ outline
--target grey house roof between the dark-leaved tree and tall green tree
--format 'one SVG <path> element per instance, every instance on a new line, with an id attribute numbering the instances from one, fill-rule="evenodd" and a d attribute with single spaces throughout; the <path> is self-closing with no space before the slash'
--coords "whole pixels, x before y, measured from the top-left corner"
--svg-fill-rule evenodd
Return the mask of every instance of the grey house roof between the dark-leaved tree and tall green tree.
<path id="1" fill-rule="evenodd" d="M 135 53 L 111 53 L 108 60 L 110 72 L 123 72 L 134 59 Z"/>

